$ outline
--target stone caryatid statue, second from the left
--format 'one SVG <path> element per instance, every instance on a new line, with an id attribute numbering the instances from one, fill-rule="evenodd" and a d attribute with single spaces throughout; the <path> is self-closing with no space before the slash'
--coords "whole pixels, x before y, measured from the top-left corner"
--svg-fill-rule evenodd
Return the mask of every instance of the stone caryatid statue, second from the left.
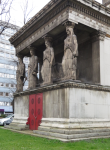
<path id="1" fill-rule="evenodd" d="M 32 46 L 30 49 L 29 65 L 28 65 L 28 89 L 33 89 L 37 85 L 37 73 L 38 73 L 38 57 L 35 55 L 35 49 Z"/>

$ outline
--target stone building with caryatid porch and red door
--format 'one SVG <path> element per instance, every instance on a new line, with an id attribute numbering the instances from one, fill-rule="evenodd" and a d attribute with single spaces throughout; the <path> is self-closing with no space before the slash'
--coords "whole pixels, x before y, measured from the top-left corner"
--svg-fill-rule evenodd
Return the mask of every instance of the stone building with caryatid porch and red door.
<path id="1" fill-rule="evenodd" d="M 105 3 L 51 0 L 11 37 L 21 71 L 18 89 L 25 78 L 24 56 L 30 57 L 30 86 L 15 93 L 15 119 L 8 128 L 29 127 L 38 136 L 62 141 L 110 136 L 110 9 Z"/>

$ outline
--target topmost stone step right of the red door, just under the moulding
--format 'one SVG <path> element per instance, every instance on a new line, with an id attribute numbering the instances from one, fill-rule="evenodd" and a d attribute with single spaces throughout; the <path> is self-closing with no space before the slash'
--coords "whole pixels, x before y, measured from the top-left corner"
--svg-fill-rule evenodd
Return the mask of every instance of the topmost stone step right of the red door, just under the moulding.
<path id="1" fill-rule="evenodd" d="M 98 132 L 110 132 L 110 128 L 93 128 L 93 129 L 58 129 L 52 127 L 42 127 L 39 126 L 39 131 L 46 131 L 46 132 L 54 132 L 54 133 L 61 133 L 61 134 L 83 134 L 83 133 L 98 133 Z"/>

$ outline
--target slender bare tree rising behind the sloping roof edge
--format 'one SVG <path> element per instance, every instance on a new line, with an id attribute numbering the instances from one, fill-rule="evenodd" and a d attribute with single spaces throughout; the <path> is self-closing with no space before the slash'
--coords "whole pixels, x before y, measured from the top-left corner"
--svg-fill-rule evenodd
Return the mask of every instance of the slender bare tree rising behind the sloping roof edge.
<path id="1" fill-rule="evenodd" d="M 21 10 L 23 13 L 23 24 L 26 24 L 30 18 L 30 14 L 32 13 L 32 11 L 34 10 L 34 6 L 33 3 L 31 1 L 31 4 L 29 4 L 29 0 L 23 0 L 21 3 Z"/>

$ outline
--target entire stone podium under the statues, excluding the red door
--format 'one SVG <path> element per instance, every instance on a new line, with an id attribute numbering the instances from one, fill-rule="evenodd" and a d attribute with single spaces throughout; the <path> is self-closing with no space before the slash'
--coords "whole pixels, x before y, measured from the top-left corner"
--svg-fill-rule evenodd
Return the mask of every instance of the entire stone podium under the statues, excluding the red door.
<path id="1" fill-rule="evenodd" d="M 25 130 L 29 95 L 43 93 L 43 119 L 38 136 L 75 141 L 110 137 L 110 87 L 65 81 L 15 95 L 11 129 Z"/>

